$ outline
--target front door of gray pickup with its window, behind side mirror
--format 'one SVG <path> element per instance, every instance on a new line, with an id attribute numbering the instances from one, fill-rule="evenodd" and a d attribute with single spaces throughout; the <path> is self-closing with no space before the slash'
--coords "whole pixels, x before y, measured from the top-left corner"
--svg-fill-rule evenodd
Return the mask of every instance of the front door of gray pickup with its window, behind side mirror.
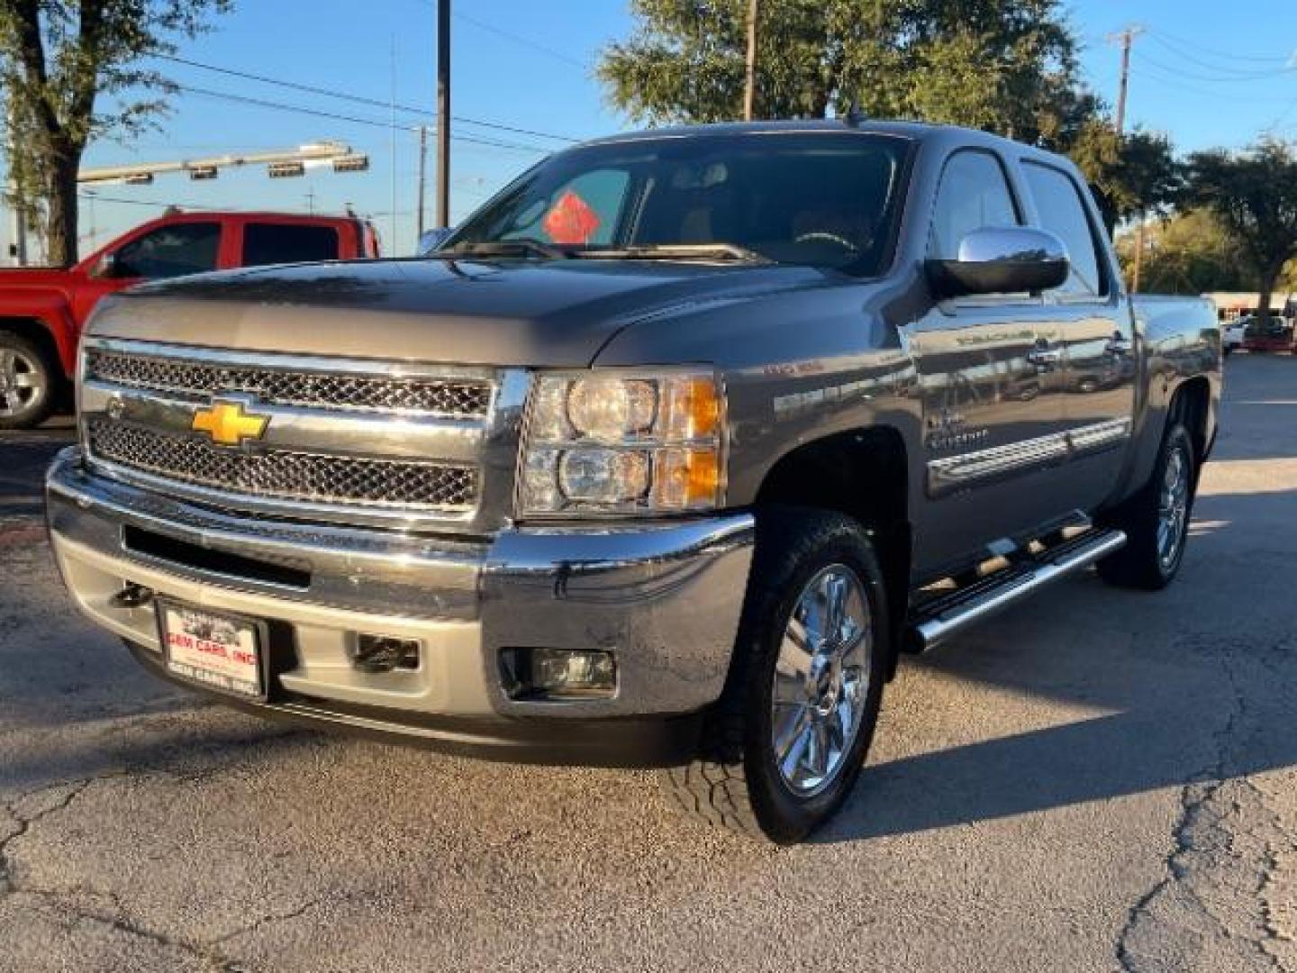
<path id="1" fill-rule="evenodd" d="M 929 257 L 953 259 L 983 227 L 1019 226 L 1005 161 L 960 149 L 942 171 Z M 907 328 L 923 411 L 926 510 L 916 563 L 966 562 L 1000 538 L 1058 520 L 1064 352 L 1054 309 L 1040 294 L 934 302 Z"/>

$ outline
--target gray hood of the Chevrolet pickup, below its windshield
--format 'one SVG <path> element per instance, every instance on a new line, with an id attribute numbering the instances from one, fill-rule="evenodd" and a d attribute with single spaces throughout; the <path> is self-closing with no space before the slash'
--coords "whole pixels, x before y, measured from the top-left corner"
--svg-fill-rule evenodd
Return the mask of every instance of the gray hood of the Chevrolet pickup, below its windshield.
<path id="1" fill-rule="evenodd" d="M 665 261 L 298 265 L 137 287 L 105 302 L 91 332 L 222 349 L 585 367 L 646 318 L 826 280 L 807 267 Z"/>

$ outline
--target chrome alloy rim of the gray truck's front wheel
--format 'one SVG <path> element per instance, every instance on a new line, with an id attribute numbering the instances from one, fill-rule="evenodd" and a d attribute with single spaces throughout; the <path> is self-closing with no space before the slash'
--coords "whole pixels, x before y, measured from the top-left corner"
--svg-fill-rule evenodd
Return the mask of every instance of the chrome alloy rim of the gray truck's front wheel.
<path id="1" fill-rule="evenodd" d="M 798 595 L 774 663 L 774 759 L 798 797 L 818 794 L 842 771 L 864 719 L 872 651 L 865 586 L 852 568 L 830 564 Z"/>

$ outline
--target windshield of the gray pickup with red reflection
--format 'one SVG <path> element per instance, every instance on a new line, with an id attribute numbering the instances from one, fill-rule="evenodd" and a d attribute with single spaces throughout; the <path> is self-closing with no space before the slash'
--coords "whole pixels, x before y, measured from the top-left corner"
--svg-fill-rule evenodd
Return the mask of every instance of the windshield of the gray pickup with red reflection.
<path id="1" fill-rule="evenodd" d="M 883 135 L 781 132 L 571 149 L 525 173 L 442 249 L 595 257 L 632 248 L 628 256 L 689 259 L 725 245 L 730 258 L 874 275 L 891 256 L 908 148 Z M 501 246 L 508 241 L 530 249 Z"/>

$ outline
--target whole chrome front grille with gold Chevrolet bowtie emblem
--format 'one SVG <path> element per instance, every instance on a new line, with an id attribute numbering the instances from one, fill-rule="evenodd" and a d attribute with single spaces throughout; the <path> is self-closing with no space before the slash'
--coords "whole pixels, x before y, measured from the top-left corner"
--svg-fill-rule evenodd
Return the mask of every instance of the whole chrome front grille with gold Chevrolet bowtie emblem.
<path id="1" fill-rule="evenodd" d="M 254 516 L 484 536 L 512 516 L 529 385 L 521 368 L 89 336 L 78 406 L 87 462 L 150 490 Z M 253 420 L 239 445 L 210 424 L 214 406 Z"/>

